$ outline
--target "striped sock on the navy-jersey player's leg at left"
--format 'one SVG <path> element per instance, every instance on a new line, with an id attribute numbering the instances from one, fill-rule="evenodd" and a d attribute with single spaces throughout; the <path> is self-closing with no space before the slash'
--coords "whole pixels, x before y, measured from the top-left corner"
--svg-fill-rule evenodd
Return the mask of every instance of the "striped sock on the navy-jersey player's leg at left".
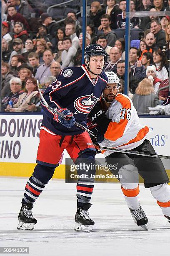
<path id="1" fill-rule="evenodd" d="M 35 202 L 35 200 L 39 197 L 42 190 L 45 188 L 45 184 L 40 182 L 40 180 L 35 177 L 30 177 L 25 187 L 24 197 L 22 200 L 23 204 L 31 204 Z"/>

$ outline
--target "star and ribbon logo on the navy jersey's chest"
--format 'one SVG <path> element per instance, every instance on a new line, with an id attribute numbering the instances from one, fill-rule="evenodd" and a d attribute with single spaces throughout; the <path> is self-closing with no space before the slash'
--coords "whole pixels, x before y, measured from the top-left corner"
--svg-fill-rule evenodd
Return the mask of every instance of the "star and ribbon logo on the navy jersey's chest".
<path id="1" fill-rule="evenodd" d="M 74 115 L 79 114 L 79 113 L 88 115 L 88 113 L 90 113 L 90 111 L 96 104 L 97 100 L 99 100 L 99 98 L 96 98 L 92 94 L 81 96 L 81 97 L 77 98 L 74 102 L 74 107 L 75 107 L 75 109 L 77 109 L 77 111 L 75 111 Z"/>

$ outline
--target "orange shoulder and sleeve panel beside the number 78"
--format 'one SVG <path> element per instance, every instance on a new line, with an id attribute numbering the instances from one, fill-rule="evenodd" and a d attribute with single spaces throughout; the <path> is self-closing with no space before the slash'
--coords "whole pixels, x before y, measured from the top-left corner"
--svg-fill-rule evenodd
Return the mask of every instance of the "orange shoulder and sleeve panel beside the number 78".
<path id="1" fill-rule="evenodd" d="M 126 110 L 131 109 L 131 103 L 128 98 L 122 97 L 122 95 L 117 95 L 116 100 L 120 102 L 120 104 L 122 105 L 122 108 L 126 108 Z M 121 119 L 121 115 L 120 115 L 119 123 L 110 122 L 104 137 L 110 141 L 116 141 L 118 138 L 121 138 L 124 134 L 127 123 L 128 123 L 128 120 L 127 120 L 127 112 L 126 112 L 124 119 Z"/>

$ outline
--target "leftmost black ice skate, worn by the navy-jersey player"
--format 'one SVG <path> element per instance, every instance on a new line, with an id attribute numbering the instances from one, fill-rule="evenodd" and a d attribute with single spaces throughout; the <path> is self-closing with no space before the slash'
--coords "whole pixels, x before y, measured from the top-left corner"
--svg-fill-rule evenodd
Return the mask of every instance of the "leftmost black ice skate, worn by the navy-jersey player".
<path id="1" fill-rule="evenodd" d="M 32 230 L 34 225 L 37 223 L 37 220 L 32 215 L 31 209 L 33 205 L 24 205 L 22 204 L 20 213 L 18 215 L 19 224 L 17 229 L 22 230 Z"/>

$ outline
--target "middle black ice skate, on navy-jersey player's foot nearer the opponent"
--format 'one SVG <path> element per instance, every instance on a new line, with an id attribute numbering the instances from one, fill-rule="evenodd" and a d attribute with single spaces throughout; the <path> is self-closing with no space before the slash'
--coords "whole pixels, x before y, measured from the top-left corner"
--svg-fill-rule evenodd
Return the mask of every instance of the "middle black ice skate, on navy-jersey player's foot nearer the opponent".
<path id="1" fill-rule="evenodd" d="M 83 207 L 77 207 L 77 212 L 75 214 L 75 231 L 92 231 L 92 226 L 95 225 L 95 222 L 90 219 L 89 212 L 87 212 L 91 205 L 92 204 L 86 204 Z"/>

